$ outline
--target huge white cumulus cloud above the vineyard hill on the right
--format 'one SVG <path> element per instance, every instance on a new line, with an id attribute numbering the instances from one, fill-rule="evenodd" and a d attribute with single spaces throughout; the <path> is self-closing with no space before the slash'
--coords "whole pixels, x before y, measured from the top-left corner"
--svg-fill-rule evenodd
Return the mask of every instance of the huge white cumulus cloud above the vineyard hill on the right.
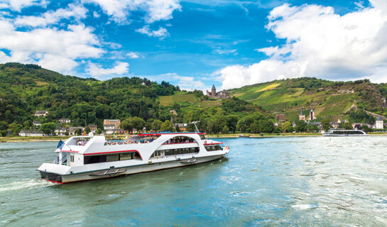
<path id="1" fill-rule="evenodd" d="M 387 2 L 370 2 L 369 8 L 343 16 L 325 6 L 276 7 L 266 28 L 285 44 L 258 49 L 267 60 L 219 70 L 222 88 L 302 76 L 386 82 Z"/>

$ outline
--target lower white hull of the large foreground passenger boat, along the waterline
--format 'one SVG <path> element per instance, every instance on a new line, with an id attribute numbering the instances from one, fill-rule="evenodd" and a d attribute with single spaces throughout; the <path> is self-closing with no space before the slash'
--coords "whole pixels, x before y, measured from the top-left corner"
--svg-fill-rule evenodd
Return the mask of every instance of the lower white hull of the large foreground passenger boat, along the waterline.
<path id="1" fill-rule="evenodd" d="M 68 183 L 68 182 L 79 182 L 89 179 L 104 179 L 111 177 L 119 177 L 123 175 L 132 175 L 140 172 L 151 172 L 156 170 L 163 170 L 174 167 L 183 167 L 187 165 L 195 165 L 203 162 L 210 162 L 212 160 L 217 160 L 224 157 L 223 155 L 212 155 L 206 157 L 195 157 L 182 160 L 173 160 L 168 162 L 153 162 L 143 165 L 128 166 L 128 167 L 116 167 L 109 170 L 95 170 L 88 172 L 80 172 L 72 175 L 59 175 L 53 172 L 47 172 L 44 170 L 39 170 L 40 175 L 43 179 L 55 183 Z"/>

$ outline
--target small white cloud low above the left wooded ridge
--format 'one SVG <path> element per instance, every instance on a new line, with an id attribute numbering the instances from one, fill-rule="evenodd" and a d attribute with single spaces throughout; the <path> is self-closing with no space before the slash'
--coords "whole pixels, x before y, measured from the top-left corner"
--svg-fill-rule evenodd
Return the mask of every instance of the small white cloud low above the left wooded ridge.
<path id="1" fill-rule="evenodd" d="M 92 77 L 97 77 L 97 78 L 111 76 L 114 74 L 121 75 L 129 72 L 129 64 L 127 62 L 116 62 L 114 67 L 111 67 L 109 69 L 104 69 L 100 65 L 89 62 L 87 72 Z"/>

